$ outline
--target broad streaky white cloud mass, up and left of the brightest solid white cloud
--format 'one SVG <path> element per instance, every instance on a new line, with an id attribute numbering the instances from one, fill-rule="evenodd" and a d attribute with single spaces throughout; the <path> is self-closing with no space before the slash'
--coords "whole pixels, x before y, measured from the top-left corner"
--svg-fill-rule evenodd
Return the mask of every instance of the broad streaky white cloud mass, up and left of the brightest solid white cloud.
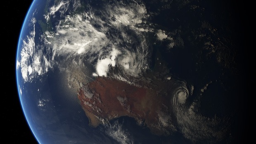
<path id="1" fill-rule="evenodd" d="M 76 57 L 78 54 L 97 54 L 102 51 L 102 47 L 109 43 L 104 33 L 95 29 L 81 17 L 82 15 L 79 14 L 73 17 L 66 16 L 61 25 L 57 26 L 59 35 L 48 39 L 56 54 L 62 55 L 66 59 Z M 90 58 L 95 59 L 95 57 Z"/>

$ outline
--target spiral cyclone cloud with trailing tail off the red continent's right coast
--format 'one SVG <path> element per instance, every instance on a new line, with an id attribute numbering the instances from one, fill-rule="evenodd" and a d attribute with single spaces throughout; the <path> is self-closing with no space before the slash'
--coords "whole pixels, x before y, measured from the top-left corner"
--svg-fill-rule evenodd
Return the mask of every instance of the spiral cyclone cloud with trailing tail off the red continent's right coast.
<path id="1" fill-rule="evenodd" d="M 173 102 L 172 109 L 176 115 L 178 127 L 183 135 L 195 143 L 202 139 L 221 139 L 227 130 L 227 127 L 223 127 L 223 125 L 227 125 L 228 120 L 220 119 L 217 116 L 208 118 L 198 113 L 195 108 L 198 108 L 199 99 L 195 99 L 192 104 L 185 104 L 187 97 L 192 92 L 190 93 L 185 82 L 179 84 L 173 93 L 171 102 Z M 192 86 L 191 90 L 193 89 Z"/>

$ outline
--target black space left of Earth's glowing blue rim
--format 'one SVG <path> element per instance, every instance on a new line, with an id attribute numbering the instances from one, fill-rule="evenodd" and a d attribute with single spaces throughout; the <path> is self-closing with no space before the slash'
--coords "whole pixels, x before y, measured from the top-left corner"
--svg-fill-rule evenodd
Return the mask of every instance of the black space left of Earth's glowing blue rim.
<path id="1" fill-rule="evenodd" d="M 31 3 L 32 0 L 5 0 L 1 5 L 1 143 L 4 144 L 38 144 L 21 109 L 15 75 L 19 33 Z"/>

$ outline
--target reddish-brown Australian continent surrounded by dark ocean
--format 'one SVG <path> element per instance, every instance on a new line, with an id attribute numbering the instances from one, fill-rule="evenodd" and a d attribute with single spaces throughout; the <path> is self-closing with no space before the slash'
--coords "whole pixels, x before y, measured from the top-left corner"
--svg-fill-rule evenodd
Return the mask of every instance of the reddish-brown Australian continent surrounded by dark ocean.
<path id="1" fill-rule="evenodd" d="M 168 85 L 170 86 L 170 85 Z M 156 135 L 168 135 L 175 131 L 171 119 L 171 97 L 160 94 L 160 87 L 145 88 L 120 80 L 97 77 L 78 92 L 92 127 L 104 121 L 129 116 L 138 124 L 147 125 Z"/>

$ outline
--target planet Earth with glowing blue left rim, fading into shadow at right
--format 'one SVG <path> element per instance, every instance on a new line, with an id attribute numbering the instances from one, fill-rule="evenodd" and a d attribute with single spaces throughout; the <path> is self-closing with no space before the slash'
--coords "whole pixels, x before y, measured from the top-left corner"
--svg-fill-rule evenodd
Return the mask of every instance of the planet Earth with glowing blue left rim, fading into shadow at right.
<path id="1" fill-rule="evenodd" d="M 38 142 L 235 142 L 239 54 L 222 4 L 34 0 L 16 73 Z"/>

